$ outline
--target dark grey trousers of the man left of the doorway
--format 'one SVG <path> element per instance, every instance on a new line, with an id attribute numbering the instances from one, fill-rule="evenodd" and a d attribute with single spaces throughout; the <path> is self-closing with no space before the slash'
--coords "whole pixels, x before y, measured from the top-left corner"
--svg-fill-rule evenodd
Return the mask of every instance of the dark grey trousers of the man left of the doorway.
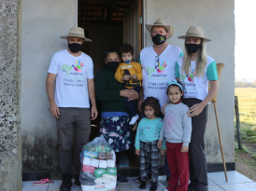
<path id="1" fill-rule="evenodd" d="M 74 159 L 75 174 L 78 174 L 81 166 L 79 154 L 82 146 L 89 142 L 91 133 L 91 112 L 89 108 L 60 107 L 59 109 L 61 115 L 56 119 L 56 125 L 62 173 L 72 174 Z M 73 138 L 75 138 L 75 149 Z"/>

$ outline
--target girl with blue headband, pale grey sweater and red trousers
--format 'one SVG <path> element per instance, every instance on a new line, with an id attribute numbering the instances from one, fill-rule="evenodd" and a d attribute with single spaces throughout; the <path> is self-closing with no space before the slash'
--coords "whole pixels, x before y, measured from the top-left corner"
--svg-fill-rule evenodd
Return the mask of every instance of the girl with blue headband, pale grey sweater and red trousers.
<path id="1" fill-rule="evenodd" d="M 192 136 L 192 118 L 186 113 L 189 107 L 181 102 L 181 84 L 175 80 L 167 86 L 169 103 L 164 108 L 164 126 L 160 132 L 158 147 L 166 140 L 166 152 L 171 177 L 164 191 L 187 191 L 189 170 L 189 143 Z"/>

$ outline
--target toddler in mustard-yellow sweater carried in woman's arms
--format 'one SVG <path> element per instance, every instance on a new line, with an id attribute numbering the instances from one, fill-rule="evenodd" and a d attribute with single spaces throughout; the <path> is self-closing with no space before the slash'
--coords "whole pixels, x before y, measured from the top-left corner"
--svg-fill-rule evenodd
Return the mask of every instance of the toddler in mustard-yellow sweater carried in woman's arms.
<path id="1" fill-rule="evenodd" d="M 135 57 L 134 48 L 125 43 L 120 47 L 120 54 L 122 62 L 120 63 L 115 78 L 120 83 L 124 83 L 125 89 L 134 89 L 138 94 L 141 87 L 142 80 L 142 70 L 139 62 L 132 61 Z M 130 125 L 135 125 L 136 120 L 138 119 L 138 115 L 136 113 L 135 104 L 128 100 L 128 98 L 124 98 L 130 115 L 132 116 Z"/>

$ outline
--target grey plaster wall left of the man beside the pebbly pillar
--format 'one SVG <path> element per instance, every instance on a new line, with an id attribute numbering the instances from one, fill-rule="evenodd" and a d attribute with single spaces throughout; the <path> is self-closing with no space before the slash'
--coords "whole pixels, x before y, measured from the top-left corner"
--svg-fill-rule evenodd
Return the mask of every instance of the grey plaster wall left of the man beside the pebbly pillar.
<path id="1" fill-rule="evenodd" d="M 50 116 L 46 77 L 52 55 L 67 48 L 61 35 L 78 25 L 77 0 L 23 0 L 21 135 L 23 171 L 59 176 L 55 119 Z"/>

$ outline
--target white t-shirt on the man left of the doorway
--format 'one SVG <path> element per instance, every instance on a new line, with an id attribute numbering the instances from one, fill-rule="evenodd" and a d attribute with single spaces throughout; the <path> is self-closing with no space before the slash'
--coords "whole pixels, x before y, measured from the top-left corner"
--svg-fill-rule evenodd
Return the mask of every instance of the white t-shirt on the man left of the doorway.
<path id="1" fill-rule="evenodd" d="M 72 56 L 67 49 L 56 52 L 48 73 L 56 75 L 55 102 L 58 107 L 90 108 L 87 78 L 93 78 L 90 56 Z"/>

